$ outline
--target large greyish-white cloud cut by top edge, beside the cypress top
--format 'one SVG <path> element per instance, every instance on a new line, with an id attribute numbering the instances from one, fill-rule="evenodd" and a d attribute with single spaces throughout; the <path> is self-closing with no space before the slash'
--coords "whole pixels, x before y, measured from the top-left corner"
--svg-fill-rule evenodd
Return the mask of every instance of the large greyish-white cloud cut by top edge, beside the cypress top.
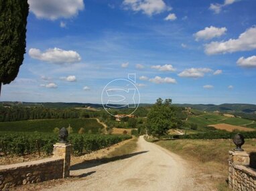
<path id="1" fill-rule="evenodd" d="M 84 9 L 83 0 L 28 0 L 29 11 L 39 19 L 70 18 L 76 16 L 78 11 Z"/>

